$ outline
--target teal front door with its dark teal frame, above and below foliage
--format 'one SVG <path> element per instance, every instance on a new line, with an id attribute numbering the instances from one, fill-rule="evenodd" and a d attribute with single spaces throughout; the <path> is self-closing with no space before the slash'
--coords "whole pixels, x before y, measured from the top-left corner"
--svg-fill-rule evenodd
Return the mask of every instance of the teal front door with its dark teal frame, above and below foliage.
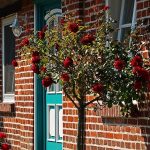
<path id="1" fill-rule="evenodd" d="M 61 0 L 37 1 L 37 30 L 45 24 L 48 28 L 56 25 L 61 17 L 60 8 Z M 53 17 L 53 14 L 56 17 Z M 61 86 L 53 84 L 46 90 L 44 88 L 41 90 L 41 81 L 37 78 L 36 89 L 36 150 L 62 150 Z"/>

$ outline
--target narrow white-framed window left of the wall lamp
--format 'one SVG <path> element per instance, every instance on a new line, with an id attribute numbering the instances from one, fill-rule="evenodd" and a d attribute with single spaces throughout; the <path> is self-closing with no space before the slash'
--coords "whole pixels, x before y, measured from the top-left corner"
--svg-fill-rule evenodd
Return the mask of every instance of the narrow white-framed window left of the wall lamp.
<path id="1" fill-rule="evenodd" d="M 14 18 L 2 20 L 3 102 L 14 102 L 15 69 L 11 62 L 15 58 L 15 37 L 10 27 Z"/>

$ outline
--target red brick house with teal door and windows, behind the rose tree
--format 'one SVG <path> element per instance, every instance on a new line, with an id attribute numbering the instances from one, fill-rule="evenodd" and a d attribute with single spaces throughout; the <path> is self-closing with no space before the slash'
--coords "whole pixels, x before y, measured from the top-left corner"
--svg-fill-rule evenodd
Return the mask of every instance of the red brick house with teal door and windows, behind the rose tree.
<path id="1" fill-rule="evenodd" d="M 40 30 L 50 19 L 49 10 L 58 17 L 61 12 L 74 11 L 85 24 L 94 23 L 93 9 L 104 5 L 110 6 L 110 13 L 118 20 L 116 39 L 122 39 L 138 19 L 144 21 L 142 28 L 150 28 L 149 0 L 0 0 L 0 131 L 7 134 L 12 150 L 76 150 L 76 109 L 58 85 L 45 91 L 31 71 L 30 60 L 19 53 L 26 27 Z M 23 27 L 19 37 L 14 37 L 10 28 L 16 13 Z M 149 57 L 147 48 L 142 53 Z M 16 68 L 11 65 L 14 58 Z M 149 150 L 149 111 L 149 103 L 136 118 L 121 117 L 118 107 L 87 111 L 86 149 Z"/>

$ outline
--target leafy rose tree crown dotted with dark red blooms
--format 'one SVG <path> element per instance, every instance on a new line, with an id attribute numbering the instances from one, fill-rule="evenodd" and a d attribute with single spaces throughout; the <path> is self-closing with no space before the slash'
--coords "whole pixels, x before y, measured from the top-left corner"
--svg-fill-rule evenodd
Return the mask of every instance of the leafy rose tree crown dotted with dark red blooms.
<path id="1" fill-rule="evenodd" d="M 59 82 L 75 107 L 102 101 L 108 107 L 119 105 L 128 115 L 133 100 L 143 100 L 150 89 L 149 60 L 140 53 L 138 30 L 121 42 L 112 38 L 115 21 L 106 21 L 109 8 L 104 8 L 94 26 L 65 16 L 57 26 L 29 34 L 21 43 L 22 53 L 31 58 L 43 86 Z M 93 100 L 87 101 L 91 94 Z"/>

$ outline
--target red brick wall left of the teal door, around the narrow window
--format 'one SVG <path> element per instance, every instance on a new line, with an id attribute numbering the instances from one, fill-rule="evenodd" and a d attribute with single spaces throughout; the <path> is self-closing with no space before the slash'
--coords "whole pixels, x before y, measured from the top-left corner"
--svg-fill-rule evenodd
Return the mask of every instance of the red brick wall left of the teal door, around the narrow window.
<path id="1" fill-rule="evenodd" d="M 34 7 L 31 0 L 22 0 L 22 8 L 18 15 L 20 17 L 25 14 L 28 16 L 28 24 L 33 29 Z M 24 22 L 22 22 L 22 25 L 25 27 Z M 19 56 L 18 53 L 19 44 L 24 36 L 25 34 L 23 33 L 19 38 L 16 38 L 16 58 L 19 65 L 15 68 L 15 104 L 0 104 L 0 131 L 7 134 L 7 140 L 12 150 L 32 150 L 34 141 L 34 78 L 30 69 L 30 62 L 25 61 L 24 57 Z M 1 38 L 0 33 L 0 41 Z M 1 85 L 0 89 L 2 89 Z M 12 107 L 14 108 L 12 109 Z"/>

